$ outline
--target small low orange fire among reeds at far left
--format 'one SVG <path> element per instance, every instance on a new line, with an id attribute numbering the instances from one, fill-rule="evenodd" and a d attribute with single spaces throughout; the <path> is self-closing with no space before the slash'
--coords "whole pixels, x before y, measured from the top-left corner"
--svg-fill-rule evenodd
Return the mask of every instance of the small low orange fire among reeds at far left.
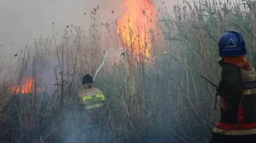
<path id="1" fill-rule="evenodd" d="M 14 94 L 18 94 L 18 93 L 21 93 L 21 94 L 29 94 L 29 93 L 33 93 L 33 89 L 35 89 L 35 78 L 28 78 L 24 84 L 22 84 L 21 86 L 13 86 L 12 89 L 11 89 L 11 92 L 14 93 Z M 40 88 L 37 88 L 36 89 L 36 92 L 37 93 L 41 93 L 43 92 L 42 89 Z"/>

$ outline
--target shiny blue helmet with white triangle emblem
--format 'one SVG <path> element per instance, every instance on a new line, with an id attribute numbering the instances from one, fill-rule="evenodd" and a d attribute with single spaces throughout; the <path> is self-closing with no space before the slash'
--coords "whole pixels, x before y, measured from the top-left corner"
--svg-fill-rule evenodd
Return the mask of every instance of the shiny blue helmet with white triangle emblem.
<path id="1" fill-rule="evenodd" d="M 243 35 L 238 31 L 227 31 L 221 35 L 218 47 L 220 57 L 246 55 Z"/>

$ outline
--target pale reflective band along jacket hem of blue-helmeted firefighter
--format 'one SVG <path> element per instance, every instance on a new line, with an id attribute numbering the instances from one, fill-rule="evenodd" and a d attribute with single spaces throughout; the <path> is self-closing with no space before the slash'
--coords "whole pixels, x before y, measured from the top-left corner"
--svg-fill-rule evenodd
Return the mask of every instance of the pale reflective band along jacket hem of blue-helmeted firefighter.
<path id="1" fill-rule="evenodd" d="M 213 132 L 220 133 L 220 134 L 226 134 L 226 135 L 246 135 L 246 134 L 255 134 L 256 129 L 247 129 L 247 130 L 224 130 L 215 127 L 213 129 Z"/>

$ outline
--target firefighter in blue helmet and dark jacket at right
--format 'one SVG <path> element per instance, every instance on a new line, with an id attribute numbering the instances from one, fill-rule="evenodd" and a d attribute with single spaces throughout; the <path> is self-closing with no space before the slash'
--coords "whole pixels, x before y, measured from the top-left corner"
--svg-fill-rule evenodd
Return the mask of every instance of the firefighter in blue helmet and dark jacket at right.
<path id="1" fill-rule="evenodd" d="M 217 45 L 222 58 L 217 88 L 221 97 L 221 118 L 213 129 L 210 142 L 256 142 L 256 73 L 244 57 L 243 35 L 227 31 Z"/>

